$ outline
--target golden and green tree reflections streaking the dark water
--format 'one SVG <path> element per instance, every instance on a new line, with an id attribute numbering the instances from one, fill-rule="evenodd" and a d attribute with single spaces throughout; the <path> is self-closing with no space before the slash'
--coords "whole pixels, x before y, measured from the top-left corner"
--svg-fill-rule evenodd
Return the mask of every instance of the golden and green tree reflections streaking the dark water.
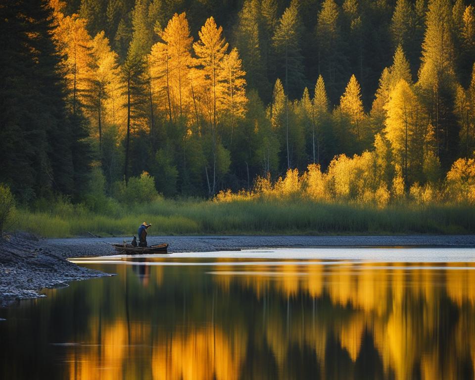
<path id="1" fill-rule="evenodd" d="M 109 289 L 116 311 L 90 318 L 83 340 L 97 345 L 70 350 L 70 379 L 239 379 L 264 352 L 267 367 L 256 378 L 285 379 L 308 353 L 320 376 L 332 378 L 330 363 L 347 363 L 351 374 L 371 347 L 383 378 L 473 374 L 472 263 L 221 260 L 205 277 L 150 268 L 146 286 L 128 271 Z M 120 298 L 138 286 L 139 301 Z"/>

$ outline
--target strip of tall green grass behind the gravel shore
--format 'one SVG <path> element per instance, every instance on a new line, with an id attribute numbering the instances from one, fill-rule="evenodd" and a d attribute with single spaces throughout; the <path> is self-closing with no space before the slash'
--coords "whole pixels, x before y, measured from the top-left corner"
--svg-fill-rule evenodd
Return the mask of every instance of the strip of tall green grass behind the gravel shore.
<path id="1" fill-rule="evenodd" d="M 152 235 L 198 234 L 469 234 L 475 206 L 318 203 L 301 198 L 229 202 L 158 198 L 139 205 L 110 201 L 99 211 L 57 202 L 36 211 L 17 209 L 14 227 L 43 237 L 132 236 L 143 222 Z"/>

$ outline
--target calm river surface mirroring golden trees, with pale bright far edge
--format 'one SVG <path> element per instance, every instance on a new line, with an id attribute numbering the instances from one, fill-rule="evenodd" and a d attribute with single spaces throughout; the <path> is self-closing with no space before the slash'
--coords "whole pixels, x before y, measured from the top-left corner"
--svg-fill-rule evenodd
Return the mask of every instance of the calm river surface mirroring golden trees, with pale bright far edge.
<path id="1" fill-rule="evenodd" d="M 76 260 L 0 309 L 0 379 L 474 379 L 474 249 Z"/>

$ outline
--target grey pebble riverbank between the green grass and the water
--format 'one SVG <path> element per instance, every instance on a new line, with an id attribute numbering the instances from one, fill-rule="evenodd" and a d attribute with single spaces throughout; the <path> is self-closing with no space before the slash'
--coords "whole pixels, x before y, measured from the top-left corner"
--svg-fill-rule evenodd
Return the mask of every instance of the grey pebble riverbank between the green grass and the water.
<path id="1" fill-rule="evenodd" d="M 68 262 L 71 257 L 115 254 L 110 246 L 123 238 L 39 239 L 17 234 L 0 242 L 0 307 L 41 297 L 41 289 L 107 276 Z M 475 235 L 407 236 L 156 236 L 149 244 L 168 242 L 169 253 L 209 252 L 256 247 L 473 247 Z"/>

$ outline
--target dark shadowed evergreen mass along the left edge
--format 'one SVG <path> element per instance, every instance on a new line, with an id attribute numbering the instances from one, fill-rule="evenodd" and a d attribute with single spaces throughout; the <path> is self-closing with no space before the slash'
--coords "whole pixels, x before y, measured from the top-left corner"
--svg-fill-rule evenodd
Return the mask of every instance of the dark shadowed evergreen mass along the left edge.
<path id="1" fill-rule="evenodd" d="M 0 17 L 0 181 L 21 201 L 51 190 L 78 199 L 89 172 L 87 131 L 66 107 L 53 9 L 16 1 L 0 6 Z"/>

